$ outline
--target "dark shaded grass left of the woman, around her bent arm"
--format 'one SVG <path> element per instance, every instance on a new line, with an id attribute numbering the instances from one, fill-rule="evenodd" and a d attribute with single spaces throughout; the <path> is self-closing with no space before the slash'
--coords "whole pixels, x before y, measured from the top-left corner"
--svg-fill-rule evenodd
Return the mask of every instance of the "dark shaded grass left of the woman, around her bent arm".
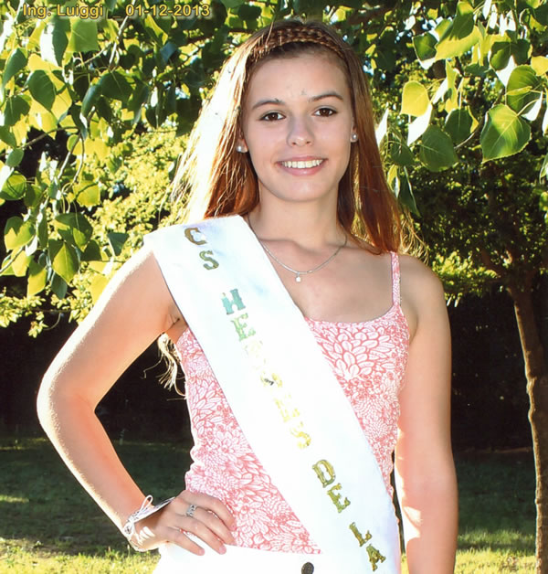
<path id="1" fill-rule="evenodd" d="M 115 446 L 142 491 L 155 500 L 184 489 L 187 448 L 141 442 Z M 93 556 L 127 550 L 116 526 L 45 439 L 0 440 L 0 467 L 0 548 L 17 544 L 39 554 Z"/>

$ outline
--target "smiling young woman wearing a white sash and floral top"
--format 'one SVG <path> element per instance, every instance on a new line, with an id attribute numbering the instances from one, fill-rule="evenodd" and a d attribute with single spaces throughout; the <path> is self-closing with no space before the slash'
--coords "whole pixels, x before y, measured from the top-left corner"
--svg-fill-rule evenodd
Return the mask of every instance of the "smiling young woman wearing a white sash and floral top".
<path id="1" fill-rule="evenodd" d="M 158 572 L 453 571 L 457 490 L 440 282 L 398 256 L 358 58 L 281 21 L 237 48 L 196 123 L 184 226 L 124 265 L 49 367 L 40 420 Z M 186 375 L 186 490 L 153 505 L 94 415 L 162 334 Z M 176 494 L 176 493 L 174 493 Z"/>

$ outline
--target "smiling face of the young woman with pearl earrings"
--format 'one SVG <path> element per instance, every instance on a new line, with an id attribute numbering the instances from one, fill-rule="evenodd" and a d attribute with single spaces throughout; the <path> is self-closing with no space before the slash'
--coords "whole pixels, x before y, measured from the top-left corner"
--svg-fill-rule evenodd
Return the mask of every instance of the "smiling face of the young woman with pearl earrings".
<path id="1" fill-rule="evenodd" d="M 271 59 L 253 74 L 243 140 L 261 201 L 336 198 L 348 166 L 353 112 L 342 69 L 321 54 Z"/>

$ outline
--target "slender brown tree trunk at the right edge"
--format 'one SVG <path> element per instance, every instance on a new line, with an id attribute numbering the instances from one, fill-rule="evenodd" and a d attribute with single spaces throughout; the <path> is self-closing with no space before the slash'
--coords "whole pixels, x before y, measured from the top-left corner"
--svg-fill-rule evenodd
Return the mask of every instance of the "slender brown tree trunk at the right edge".
<path id="1" fill-rule="evenodd" d="M 548 368 L 532 305 L 532 280 L 508 287 L 525 361 L 536 475 L 536 573 L 548 574 Z"/>

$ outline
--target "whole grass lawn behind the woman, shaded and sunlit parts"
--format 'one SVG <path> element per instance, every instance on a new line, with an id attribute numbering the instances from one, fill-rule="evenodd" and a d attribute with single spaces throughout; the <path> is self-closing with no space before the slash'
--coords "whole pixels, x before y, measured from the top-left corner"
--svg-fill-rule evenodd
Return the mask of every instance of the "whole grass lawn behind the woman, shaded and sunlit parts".
<path id="1" fill-rule="evenodd" d="M 162 500 L 182 490 L 189 464 L 184 446 L 139 442 L 116 448 L 143 492 Z M 532 454 L 456 458 L 460 529 L 455 571 L 532 572 Z M 128 547 L 46 440 L 0 437 L 0 468 L 0 573 L 153 570 L 157 555 Z"/>

